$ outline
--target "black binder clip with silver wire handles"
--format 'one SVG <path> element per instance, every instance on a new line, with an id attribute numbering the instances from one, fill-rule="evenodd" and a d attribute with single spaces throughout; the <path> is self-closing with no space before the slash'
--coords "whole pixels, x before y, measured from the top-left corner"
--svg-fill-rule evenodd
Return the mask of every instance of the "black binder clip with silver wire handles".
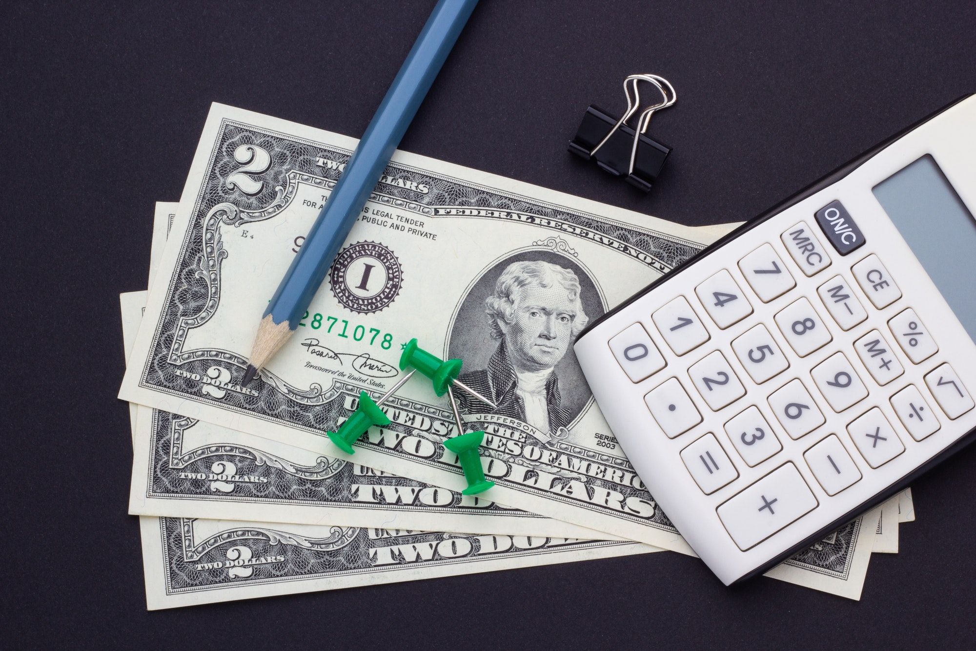
<path id="1" fill-rule="evenodd" d="M 661 92 L 663 100 L 640 113 L 634 131 L 627 121 L 640 108 L 638 81 L 651 83 Z M 633 99 L 630 98 L 631 88 Z M 656 74 L 631 74 L 624 80 L 624 93 L 627 95 L 627 112 L 619 120 L 603 109 L 590 105 L 576 137 L 569 142 L 569 151 L 587 160 L 595 160 L 603 170 L 614 176 L 626 177 L 631 186 L 646 193 L 665 166 L 671 148 L 644 133 L 654 111 L 670 107 L 677 100 L 677 95 L 671 83 Z"/>

